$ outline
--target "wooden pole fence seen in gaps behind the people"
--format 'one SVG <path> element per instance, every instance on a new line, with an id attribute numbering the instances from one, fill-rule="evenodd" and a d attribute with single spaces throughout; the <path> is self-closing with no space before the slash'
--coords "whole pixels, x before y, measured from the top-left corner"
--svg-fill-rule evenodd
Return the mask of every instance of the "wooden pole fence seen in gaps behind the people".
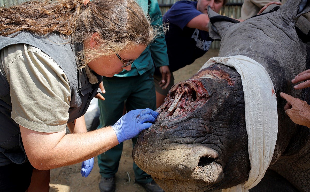
<path id="1" fill-rule="evenodd" d="M 27 0 L 0 0 L 0 6 L 10 7 L 12 5 L 16 5 L 22 2 L 26 2 Z M 164 15 L 168 9 L 173 5 L 173 3 L 178 0 L 158 0 L 159 7 Z M 219 11 L 219 14 L 224 16 L 229 16 L 232 18 L 240 18 L 241 6 L 243 0 L 228 0 L 226 5 Z M 211 44 L 211 49 L 219 48 L 219 41 L 214 41 Z"/>

